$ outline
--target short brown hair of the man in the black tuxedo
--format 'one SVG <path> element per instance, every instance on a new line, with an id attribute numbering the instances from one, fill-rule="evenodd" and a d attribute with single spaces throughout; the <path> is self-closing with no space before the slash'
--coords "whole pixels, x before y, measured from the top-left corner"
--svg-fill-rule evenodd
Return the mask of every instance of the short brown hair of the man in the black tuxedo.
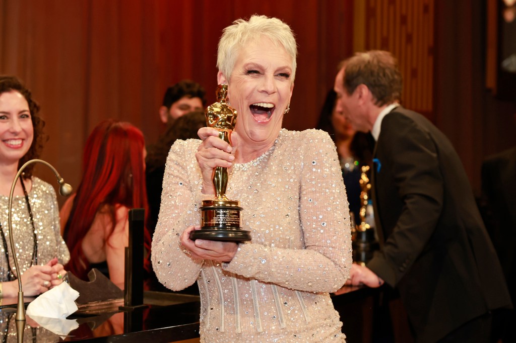
<path id="1" fill-rule="evenodd" d="M 402 80 L 396 58 L 386 51 L 356 53 L 343 62 L 344 88 L 352 94 L 365 84 L 375 97 L 375 105 L 383 106 L 401 99 Z"/>

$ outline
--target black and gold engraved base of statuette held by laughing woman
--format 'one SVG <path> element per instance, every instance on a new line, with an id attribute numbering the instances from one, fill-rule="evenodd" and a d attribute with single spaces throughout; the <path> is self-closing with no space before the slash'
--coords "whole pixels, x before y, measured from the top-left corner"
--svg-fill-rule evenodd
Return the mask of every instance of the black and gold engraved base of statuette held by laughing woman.
<path id="1" fill-rule="evenodd" d="M 251 232 L 241 229 L 240 212 L 243 208 L 235 200 L 203 200 L 201 230 L 190 232 L 190 239 L 210 241 L 251 241 Z"/>

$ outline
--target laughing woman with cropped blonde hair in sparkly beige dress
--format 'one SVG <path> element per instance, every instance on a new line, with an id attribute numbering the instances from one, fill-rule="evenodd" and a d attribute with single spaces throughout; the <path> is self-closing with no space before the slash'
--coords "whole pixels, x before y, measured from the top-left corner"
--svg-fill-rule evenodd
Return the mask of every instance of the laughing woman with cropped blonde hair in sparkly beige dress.
<path id="1" fill-rule="evenodd" d="M 345 339 L 329 293 L 348 278 L 348 203 L 326 132 L 282 129 L 294 87 L 291 29 L 253 15 L 224 29 L 218 83 L 238 112 L 233 148 L 218 131 L 176 141 L 163 182 L 152 262 L 160 282 L 198 282 L 202 342 L 329 342 Z M 289 115 L 293 115 L 292 113 Z M 226 195 L 240 202 L 245 243 L 191 241 L 213 169 L 227 167 Z"/>

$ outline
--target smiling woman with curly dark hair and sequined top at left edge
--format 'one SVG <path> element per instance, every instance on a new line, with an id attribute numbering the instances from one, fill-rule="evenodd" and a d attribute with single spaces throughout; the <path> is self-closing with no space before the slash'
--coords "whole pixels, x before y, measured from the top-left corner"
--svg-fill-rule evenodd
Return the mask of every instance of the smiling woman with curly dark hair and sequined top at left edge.
<path id="1" fill-rule="evenodd" d="M 8 200 L 12 180 L 25 162 L 38 158 L 43 121 L 30 92 L 14 77 L 0 77 L 0 280 L 4 298 L 18 295 L 18 271 L 9 244 Z M 62 283 L 70 254 L 59 233 L 59 208 L 54 188 L 32 176 L 32 167 L 14 188 L 12 230 L 18 247 L 23 293 L 37 296 Z M 34 234 L 35 233 L 35 234 Z"/>

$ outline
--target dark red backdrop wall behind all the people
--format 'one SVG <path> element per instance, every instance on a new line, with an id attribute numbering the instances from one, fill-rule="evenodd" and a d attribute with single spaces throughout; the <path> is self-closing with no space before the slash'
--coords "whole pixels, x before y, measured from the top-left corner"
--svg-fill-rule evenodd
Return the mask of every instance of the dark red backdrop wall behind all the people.
<path id="1" fill-rule="evenodd" d="M 484 7 L 483 0 L 2 0 L 0 74 L 33 90 L 50 136 L 43 159 L 77 186 L 96 124 L 123 119 L 154 142 L 169 85 L 195 80 L 215 101 L 221 30 L 254 13 L 276 16 L 299 45 L 286 128 L 316 125 L 338 61 L 354 49 L 390 49 L 401 55 L 407 82 L 420 82 L 407 83 L 404 98 L 446 133 L 478 190 L 483 157 L 516 144 L 515 102 L 483 86 Z M 416 36 L 429 27 L 434 36 Z M 425 63 L 406 58 L 408 49 Z"/>

